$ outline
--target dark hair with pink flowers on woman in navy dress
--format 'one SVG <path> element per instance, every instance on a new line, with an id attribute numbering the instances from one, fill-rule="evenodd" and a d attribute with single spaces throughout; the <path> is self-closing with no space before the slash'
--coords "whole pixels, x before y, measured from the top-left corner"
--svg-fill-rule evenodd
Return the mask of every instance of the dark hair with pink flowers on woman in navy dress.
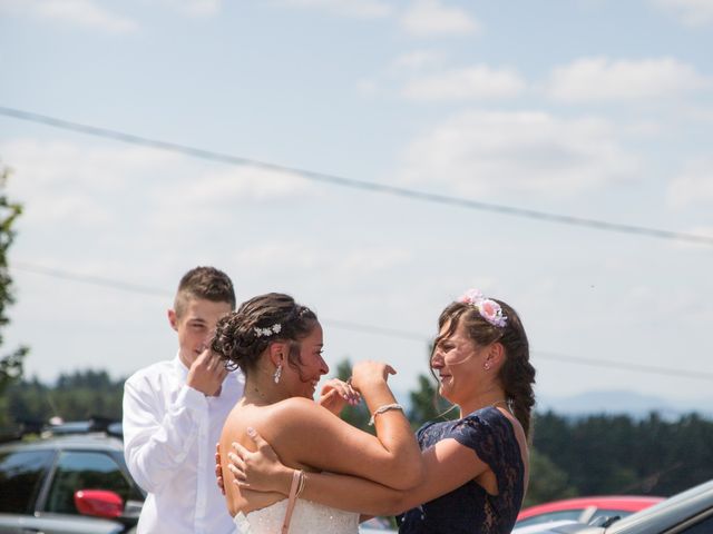
<path id="1" fill-rule="evenodd" d="M 478 293 L 466 294 L 441 313 L 438 319 L 439 332 L 446 324 L 449 327 L 443 336 L 439 336 L 437 344 L 441 337 L 451 336 L 460 323 L 466 327 L 468 337 L 477 345 L 487 346 L 499 342 L 505 348 L 499 378 L 515 417 L 529 437 L 530 416 L 535 405 L 535 367 L 530 364 L 529 343 L 517 312 L 502 300 L 486 299 Z"/>

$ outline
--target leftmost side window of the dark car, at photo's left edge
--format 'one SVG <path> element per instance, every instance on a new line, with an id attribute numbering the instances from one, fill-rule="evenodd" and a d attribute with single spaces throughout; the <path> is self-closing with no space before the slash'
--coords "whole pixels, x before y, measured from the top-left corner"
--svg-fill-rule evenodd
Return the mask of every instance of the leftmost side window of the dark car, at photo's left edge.
<path id="1" fill-rule="evenodd" d="M 49 468 L 51 451 L 13 451 L 0 453 L 0 512 L 28 514 L 45 473 Z"/>

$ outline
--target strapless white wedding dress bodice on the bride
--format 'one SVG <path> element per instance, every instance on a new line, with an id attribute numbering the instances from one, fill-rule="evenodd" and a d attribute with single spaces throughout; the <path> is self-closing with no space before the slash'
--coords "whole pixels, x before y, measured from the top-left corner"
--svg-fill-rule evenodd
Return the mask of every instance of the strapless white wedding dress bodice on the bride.
<path id="1" fill-rule="evenodd" d="M 236 534 L 280 534 L 287 511 L 287 500 L 280 501 L 247 515 L 235 517 Z M 332 508 L 312 501 L 297 500 L 290 534 L 358 534 L 359 514 Z"/>

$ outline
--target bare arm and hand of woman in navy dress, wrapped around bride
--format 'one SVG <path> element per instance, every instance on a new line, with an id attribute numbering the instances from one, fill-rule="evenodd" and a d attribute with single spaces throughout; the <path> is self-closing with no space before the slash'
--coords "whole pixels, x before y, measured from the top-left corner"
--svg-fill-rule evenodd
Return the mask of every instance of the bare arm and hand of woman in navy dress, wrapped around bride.
<path id="1" fill-rule="evenodd" d="M 293 469 L 281 464 L 270 444 L 252 434 L 257 452 L 233 444 L 228 468 L 234 484 L 253 491 L 290 491 Z M 423 451 L 423 481 L 412 490 L 399 491 L 364 478 L 333 473 L 305 473 L 302 496 L 342 510 L 371 515 L 393 515 L 462 486 L 489 467 L 476 453 L 456 439 L 443 439 Z"/>

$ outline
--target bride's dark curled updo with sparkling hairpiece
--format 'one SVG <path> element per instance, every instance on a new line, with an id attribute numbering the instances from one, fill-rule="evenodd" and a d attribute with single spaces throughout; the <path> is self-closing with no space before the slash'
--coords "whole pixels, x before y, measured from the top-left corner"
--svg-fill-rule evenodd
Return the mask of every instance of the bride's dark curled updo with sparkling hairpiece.
<path id="1" fill-rule="evenodd" d="M 253 297 L 218 320 L 211 349 L 228 370 L 240 368 L 247 376 L 265 348 L 286 342 L 287 364 L 299 370 L 300 342 L 318 325 L 316 315 L 290 295 L 268 293 Z"/>

